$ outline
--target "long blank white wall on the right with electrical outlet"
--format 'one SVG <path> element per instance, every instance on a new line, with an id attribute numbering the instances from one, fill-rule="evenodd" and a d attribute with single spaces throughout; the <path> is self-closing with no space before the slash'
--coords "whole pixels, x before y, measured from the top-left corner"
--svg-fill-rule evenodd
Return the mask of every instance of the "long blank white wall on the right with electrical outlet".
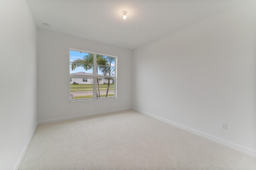
<path id="1" fill-rule="evenodd" d="M 134 50 L 132 106 L 256 156 L 255 9 L 248 1 Z"/>

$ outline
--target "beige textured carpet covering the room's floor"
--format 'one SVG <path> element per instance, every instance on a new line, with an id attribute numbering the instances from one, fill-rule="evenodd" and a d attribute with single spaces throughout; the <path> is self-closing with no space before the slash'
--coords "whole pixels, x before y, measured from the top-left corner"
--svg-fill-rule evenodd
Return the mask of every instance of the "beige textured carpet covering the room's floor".
<path id="1" fill-rule="evenodd" d="M 256 170 L 256 158 L 136 111 L 39 125 L 20 170 Z"/>

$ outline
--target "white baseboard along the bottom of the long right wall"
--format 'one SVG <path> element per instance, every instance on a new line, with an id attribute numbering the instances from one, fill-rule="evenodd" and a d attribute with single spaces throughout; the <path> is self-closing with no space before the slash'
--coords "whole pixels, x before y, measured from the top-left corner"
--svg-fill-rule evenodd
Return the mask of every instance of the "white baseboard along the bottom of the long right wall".
<path id="1" fill-rule="evenodd" d="M 230 148 L 239 150 L 239 151 L 244 152 L 244 153 L 246 153 L 246 154 L 250 154 L 250 155 L 252 155 L 252 156 L 256 156 L 256 150 L 252 150 L 252 149 L 249 149 L 249 148 L 246 148 L 246 147 L 237 145 L 237 144 L 235 144 L 235 143 L 232 143 L 232 142 L 229 142 L 229 141 L 220 139 L 220 138 L 218 138 L 218 137 L 209 135 L 209 134 L 207 134 L 207 133 L 198 131 L 198 130 L 196 130 L 196 129 L 192 129 L 192 128 L 190 128 L 190 127 L 186 127 L 186 126 L 184 126 L 184 125 L 175 123 L 175 122 L 173 122 L 173 121 L 164 119 L 164 118 L 162 118 L 162 117 L 159 117 L 159 116 L 156 116 L 156 115 L 152 115 L 152 114 L 150 114 L 150 113 L 147 113 L 147 112 L 145 112 L 145 111 L 142 111 L 142 110 L 139 110 L 139 109 L 136 109 L 136 108 L 132 108 L 132 109 L 135 110 L 135 111 L 138 111 L 139 113 L 148 115 L 148 116 L 150 116 L 150 117 L 153 117 L 153 118 L 155 118 L 155 119 L 158 119 L 158 120 L 160 120 L 160 121 L 163 121 L 163 122 L 165 122 L 165 123 L 168 123 L 168 124 L 170 124 L 170 125 L 179 127 L 180 129 L 184 129 L 184 130 L 186 130 L 186 131 L 189 131 L 189 132 L 191 132 L 191 133 L 194 133 L 194 134 L 199 135 L 199 136 L 201 136 L 201 137 L 204 137 L 204 138 L 206 138 L 206 139 L 210 139 L 211 141 L 214 141 L 214 142 L 220 143 L 220 144 L 222 144 L 222 145 L 225 145 L 225 146 L 227 146 L 227 147 L 230 147 Z"/>

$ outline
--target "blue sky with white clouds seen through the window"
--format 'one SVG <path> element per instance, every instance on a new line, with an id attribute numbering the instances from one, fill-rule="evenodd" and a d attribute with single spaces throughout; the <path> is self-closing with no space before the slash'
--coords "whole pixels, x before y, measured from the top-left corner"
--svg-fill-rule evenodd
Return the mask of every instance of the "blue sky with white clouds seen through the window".
<path id="1" fill-rule="evenodd" d="M 75 59 L 79 59 L 79 58 L 82 59 L 85 55 L 88 55 L 88 53 L 70 50 L 70 62 L 74 61 Z M 115 63 L 112 63 L 111 66 L 115 66 Z M 75 70 L 71 70 L 71 67 L 70 67 L 70 73 L 76 73 L 76 72 L 92 73 L 93 69 L 84 70 L 84 68 L 78 67 Z M 98 70 L 98 74 L 102 74 L 102 72 Z"/>

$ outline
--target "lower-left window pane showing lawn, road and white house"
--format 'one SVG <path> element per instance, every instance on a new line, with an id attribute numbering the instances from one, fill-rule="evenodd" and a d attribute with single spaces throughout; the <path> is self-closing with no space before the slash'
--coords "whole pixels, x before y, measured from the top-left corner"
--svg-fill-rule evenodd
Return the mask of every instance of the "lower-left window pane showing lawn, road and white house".
<path id="1" fill-rule="evenodd" d="M 93 78 L 77 78 L 71 76 L 70 100 L 87 98 L 93 98 Z"/>

